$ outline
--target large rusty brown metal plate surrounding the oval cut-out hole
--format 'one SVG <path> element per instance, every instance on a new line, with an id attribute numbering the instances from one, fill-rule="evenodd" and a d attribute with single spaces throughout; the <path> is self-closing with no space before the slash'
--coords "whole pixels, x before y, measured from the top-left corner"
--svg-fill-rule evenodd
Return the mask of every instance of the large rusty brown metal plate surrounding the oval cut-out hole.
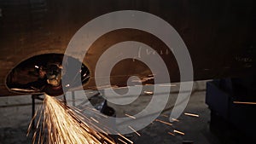
<path id="1" fill-rule="evenodd" d="M 127 9 L 155 14 L 177 30 L 189 49 L 195 80 L 255 72 L 253 0 L 1 0 L 0 9 L 0 96 L 17 95 L 6 87 L 6 78 L 21 61 L 41 54 L 64 54 L 71 37 L 85 23 Z M 127 40 L 154 48 L 166 61 L 172 81 L 179 81 L 177 62 L 160 39 L 147 32 L 124 29 L 103 35 L 90 47 L 84 64 L 92 76 L 85 89 L 95 85 L 93 74 L 102 51 Z M 115 66 L 111 82 L 126 84 L 131 74 L 147 76 L 150 72 L 138 61 L 125 60 Z"/>

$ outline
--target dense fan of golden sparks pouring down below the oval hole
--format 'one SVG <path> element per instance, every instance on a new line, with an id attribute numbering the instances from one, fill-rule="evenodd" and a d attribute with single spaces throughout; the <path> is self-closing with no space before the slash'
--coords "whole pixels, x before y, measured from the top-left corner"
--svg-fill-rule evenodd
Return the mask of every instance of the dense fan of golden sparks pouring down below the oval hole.
<path id="1" fill-rule="evenodd" d="M 87 119 L 87 121 L 85 120 Z M 49 144 L 114 144 L 115 141 L 95 124 L 92 124 L 84 115 L 74 111 L 64 102 L 55 97 L 45 95 L 44 105 L 38 119 L 37 130 L 33 134 L 32 143 Z M 41 124 L 40 120 L 43 122 Z M 29 126 L 28 133 L 30 132 Z M 45 131 L 46 130 L 46 131 Z"/>

